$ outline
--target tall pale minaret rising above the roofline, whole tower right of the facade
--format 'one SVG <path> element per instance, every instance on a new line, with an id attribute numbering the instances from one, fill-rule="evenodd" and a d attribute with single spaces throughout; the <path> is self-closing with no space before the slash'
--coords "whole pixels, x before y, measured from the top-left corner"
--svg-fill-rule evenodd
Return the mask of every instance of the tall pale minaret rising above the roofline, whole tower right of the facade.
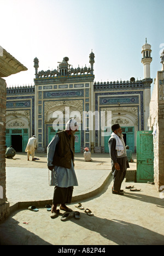
<path id="1" fill-rule="evenodd" d="M 142 46 L 141 53 L 142 53 L 141 62 L 144 65 L 144 79 L 150 78 L 150 63 L 152 61 L 152 58 L 151 58 L 151 45 L 147 43 L 147 38 L 146 38 L 146 43 Z"/>

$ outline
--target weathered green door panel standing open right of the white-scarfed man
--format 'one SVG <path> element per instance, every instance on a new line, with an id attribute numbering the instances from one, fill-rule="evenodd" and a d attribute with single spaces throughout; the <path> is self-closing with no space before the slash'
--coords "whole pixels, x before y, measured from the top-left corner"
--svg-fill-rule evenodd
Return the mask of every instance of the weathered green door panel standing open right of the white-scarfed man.
<path id="1" fill-rule="evenodd" d="M 137 132 L 137 182 L 154 181 L 154 149 L 152 131 Z"/>

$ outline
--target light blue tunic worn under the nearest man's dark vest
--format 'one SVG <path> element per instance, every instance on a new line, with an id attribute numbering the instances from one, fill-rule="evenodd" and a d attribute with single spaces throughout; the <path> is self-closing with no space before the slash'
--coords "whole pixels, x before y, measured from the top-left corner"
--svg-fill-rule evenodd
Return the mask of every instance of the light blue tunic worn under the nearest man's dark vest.
<path id="1" fill-rule="evenodd" d="M 55 135 L 47 148 L 48 166 L 53 166 L 52 161 L 58 141 L 59 137 L 58 135 Z M 70 169 L 61 166 L 55 166 L 54 170 L 52 170 L 51 178 L 54 179 L 54 181 L 51 181 L 51 184 L 56 185 L 57 187 L 68 188 L 71 186 L 78 186 L 73 162 Z"/>

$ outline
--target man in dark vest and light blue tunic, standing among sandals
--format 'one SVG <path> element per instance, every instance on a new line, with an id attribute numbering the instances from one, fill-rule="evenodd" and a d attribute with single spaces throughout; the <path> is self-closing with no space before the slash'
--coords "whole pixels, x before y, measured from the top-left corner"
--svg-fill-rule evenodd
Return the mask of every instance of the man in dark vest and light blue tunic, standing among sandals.
<path id="1" fill-rule="evenodd" d="M 71 203 L 73 186 L 78 186 L 74 171 L 74 133 L 78 130 L 75 119 L 70 119 L 66 124 L 66 130 L 57 132 L 47 148 L 48 168 L 54 173 L 55 188 L 51 207 L 51 218 L 56 218 L 60 209 L 72 212 L 66 206 Z"/>

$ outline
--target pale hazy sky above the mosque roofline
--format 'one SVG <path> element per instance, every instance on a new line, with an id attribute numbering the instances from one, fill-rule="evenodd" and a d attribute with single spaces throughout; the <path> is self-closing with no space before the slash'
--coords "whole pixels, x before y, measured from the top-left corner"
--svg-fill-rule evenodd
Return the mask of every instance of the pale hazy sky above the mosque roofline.
<path id="1" fill-rule="evenodd" d="M 95 82 L 143 79 L 142 46 L 151 45 L 151 78 L 164 49 L 164 0 L 0 0 L 0 45 L 28 68 L 4 78 L 7 86 L 34 85 L 38 71 L 57 69 L 68 57 L 73 68 L 90 66 Z M 153 84 L 152 84 L 153 88 Z"/>

